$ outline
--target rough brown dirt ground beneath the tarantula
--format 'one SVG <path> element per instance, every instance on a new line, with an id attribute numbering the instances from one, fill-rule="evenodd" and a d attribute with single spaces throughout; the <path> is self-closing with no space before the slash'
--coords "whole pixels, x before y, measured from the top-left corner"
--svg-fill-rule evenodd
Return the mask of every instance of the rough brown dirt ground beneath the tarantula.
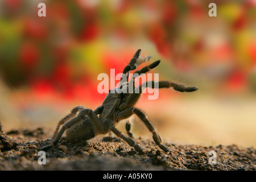
<path id="1" fill-rule="evenodd" d="M 51 140 L 46 129 L 11 130 L 0 135 L 0 170 L 255 170 L 256 150 L 232 146 L 197 146 L 165 143 L 170 152 L 159 150 L 152 140 L 136 141 L 144 153 L 119 138 L 102 137 L 89 142 L 66 142 L 46 152 L 40 165 L 39 148 Z M 217 163 L 210 164 L 215 151 Z M 211 158 L 212 157 L 212 158 Z M 40 160 L 42 161 L 42 160 Z"/>

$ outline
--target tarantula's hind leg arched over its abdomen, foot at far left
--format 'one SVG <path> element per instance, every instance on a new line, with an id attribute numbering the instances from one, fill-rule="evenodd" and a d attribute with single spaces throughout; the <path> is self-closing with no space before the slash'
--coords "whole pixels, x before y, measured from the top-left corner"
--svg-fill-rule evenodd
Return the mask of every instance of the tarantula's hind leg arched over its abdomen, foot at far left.
<path id="1" fill-rule="evenodd" d="M 100 121 L 100 118 L 97 117 L 96 113 L 94 113 L 91 109 L 83 109 L 79 112 L 79 114 L 75 117 L 66 122 L 60 129 L 59 133 L 57 133 L 56 137 L 53 139 L 52 143 L 48 146 L 44 146 L 40 148 L 40 150 L 48 150 L 49 148 L 56 146 L 56 144 L 59 142 L 61 136 L 63 135 L 64 131 L 69 129 L 71 126 L 75 125 L 75 123 L 80 122 L 84 119 L 85 115 L 88 115 L 91 119 L 93 126 L 94 126 L 94 135 L 96 134 L 105 134 L 108 130 L 106 130 L 106 127 L 102 125 L 102 122 Z"/>

